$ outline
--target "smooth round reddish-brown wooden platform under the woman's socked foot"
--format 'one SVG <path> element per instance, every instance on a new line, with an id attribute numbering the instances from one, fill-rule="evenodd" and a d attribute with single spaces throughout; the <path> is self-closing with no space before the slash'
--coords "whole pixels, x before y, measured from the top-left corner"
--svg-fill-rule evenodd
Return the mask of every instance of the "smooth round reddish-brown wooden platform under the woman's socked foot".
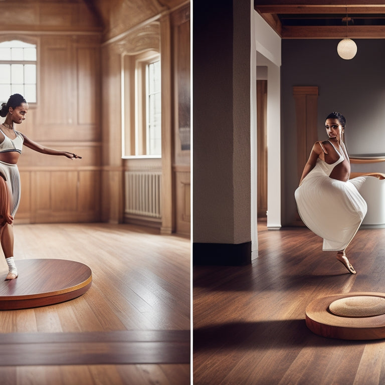
<path id="1" fill-rule="evenodd" d="M 0 280 L 0 310 L 53 305 L 84 294 L 92 283 L 91 269 L 63 259 L 17 260 L 19 276 Z"/>

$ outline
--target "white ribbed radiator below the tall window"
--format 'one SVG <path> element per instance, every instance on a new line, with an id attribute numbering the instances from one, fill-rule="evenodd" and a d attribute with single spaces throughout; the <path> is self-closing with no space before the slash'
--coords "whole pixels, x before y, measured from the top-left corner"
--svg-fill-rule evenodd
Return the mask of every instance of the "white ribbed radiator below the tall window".
<path id="1" fill-rule="evenodd" d="M 126 214 L 161 218 L 160 177 L 160 171 L 126 171 Z"/>

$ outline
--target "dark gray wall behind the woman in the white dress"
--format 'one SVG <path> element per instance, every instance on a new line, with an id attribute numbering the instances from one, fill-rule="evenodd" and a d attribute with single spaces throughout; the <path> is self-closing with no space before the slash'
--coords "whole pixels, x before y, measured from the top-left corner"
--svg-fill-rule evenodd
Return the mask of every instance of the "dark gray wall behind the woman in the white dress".
<path id="1" fill-rule="evenodd" d="M 296 210 L 296 116 L 293 86 L 318 86 L 318 139 L 325 140 L 325 117 L 332 111 L 346 118 L 349 154 L 385 154 L 385 40 L 356 39 L 352 60 L 337 54 L 339 40 L 282 40 L 281 129 L 282 224 Z M 385 172 L 385 162 L 352 164 L 352 172 Z"/>

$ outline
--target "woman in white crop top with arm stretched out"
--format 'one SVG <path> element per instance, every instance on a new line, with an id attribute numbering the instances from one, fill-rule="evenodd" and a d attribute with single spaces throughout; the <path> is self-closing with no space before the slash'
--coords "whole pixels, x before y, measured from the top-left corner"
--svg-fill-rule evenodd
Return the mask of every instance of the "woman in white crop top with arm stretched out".
<path id="1" fill-rule="evenodd" d="M 23 144 L 37 152 L 63 155 L 70 159 L 81 158 L 72 152 L 58 151 L 42 146 L 15 130 L 15 124 L 26 119 L 28 104 L 20 94 L 11 95 L 3 103 L 0 116 L 6 117 L 0 124 L 0 243 L 8 265 L 6 280 L 18 277 L 14 261 L 13 222 L 20 203 L 20 175 L 17 166 Z"/>

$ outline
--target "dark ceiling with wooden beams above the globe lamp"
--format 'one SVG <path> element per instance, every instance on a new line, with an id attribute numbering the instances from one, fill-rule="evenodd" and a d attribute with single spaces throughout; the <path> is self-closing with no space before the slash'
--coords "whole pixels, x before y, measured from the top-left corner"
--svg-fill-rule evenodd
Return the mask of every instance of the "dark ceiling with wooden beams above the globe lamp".
<path id="1" fill-rule="evenodd" d="M 254 9 L 282 39 L 385 39 L 384 0 L 254 0 Z"/>

